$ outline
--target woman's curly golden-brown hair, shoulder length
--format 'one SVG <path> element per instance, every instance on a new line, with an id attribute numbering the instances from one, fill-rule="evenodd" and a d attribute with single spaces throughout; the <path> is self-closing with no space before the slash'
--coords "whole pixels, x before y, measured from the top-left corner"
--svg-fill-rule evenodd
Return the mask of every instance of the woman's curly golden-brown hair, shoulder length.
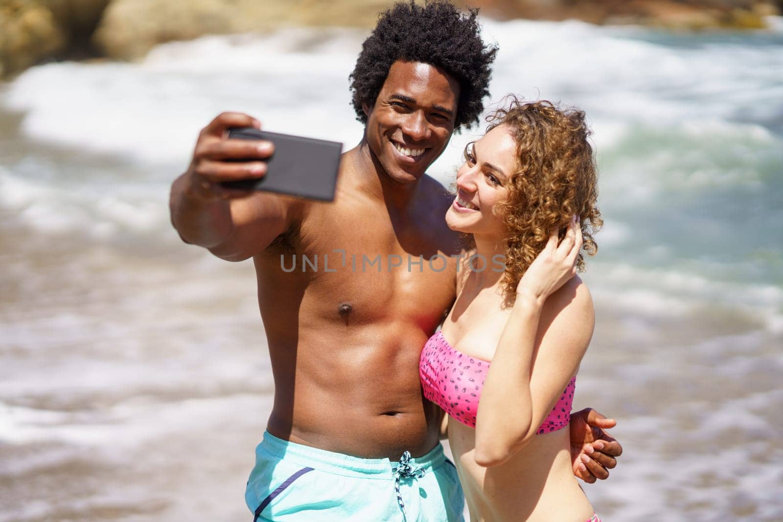
<path id="1" fill-rule="evenodd" d="M 523 103 L 514 95 L 507 107 L 489 115 L 487 132 L 506 125 L 517 142 L 517 170 L 511 175 L 507 200 L 496 214 L 507 227 L 506 269 L 501 286 L 506 301 L 514 303 L 519 280 L 547 244 L 550 232 L 565 236 L 574 214 L 581 218 L 582 250 L 594 255 L 593 235 L 604 221 L 596 206 L 597 168 L 585 113 L 561 109 L 546 100 Z M 584 272 L 583 254 L 577 261 Z"/>

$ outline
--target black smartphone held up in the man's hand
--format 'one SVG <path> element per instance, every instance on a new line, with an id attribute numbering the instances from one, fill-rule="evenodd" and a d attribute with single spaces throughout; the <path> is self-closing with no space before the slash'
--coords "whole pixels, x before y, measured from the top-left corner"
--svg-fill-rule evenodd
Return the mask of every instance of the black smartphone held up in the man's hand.
<path id="1" fill-rule="evenodd" d="M 334 200 L 342 143 L 259 131 L 253 127 L 229 129 L 229 139 L 263 139 L 275 144 L 275 153 L 265 160 L 268 168 L 264 177 L 223 182 L 226 188 Z"/>

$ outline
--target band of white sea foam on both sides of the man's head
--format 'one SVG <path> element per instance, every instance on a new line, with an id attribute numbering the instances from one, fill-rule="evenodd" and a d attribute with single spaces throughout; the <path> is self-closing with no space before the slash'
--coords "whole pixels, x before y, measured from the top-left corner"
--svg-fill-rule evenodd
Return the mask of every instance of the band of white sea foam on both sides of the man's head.
<path id="1" fill-rule="evenodd" d="M 348 106 L 348 74 L 364 34 L 287 29 L 162 45 L 141 63 L 52 63 L 18 77 L 5 104 L 27 111 L 23 128 L 31 136 L 145 160 L 184 162 L 197 129 L 222 110 L 352 146 L 361 127 Z M 783 67 L 783 57 L 763 49 L 666 47 L 644 41 L 646 34 L 487 20 L 485 35 L 500 45 L 493 99 L 516 92 L 582 106 L 603 146 L 616 132 L 604 136 L 601 121 L 729 120 L 772 92 L 770 70 Z M 630 74 L 630 63 L 644 67 Z M 448 171 L 457 157 L 435 170 Z"/>

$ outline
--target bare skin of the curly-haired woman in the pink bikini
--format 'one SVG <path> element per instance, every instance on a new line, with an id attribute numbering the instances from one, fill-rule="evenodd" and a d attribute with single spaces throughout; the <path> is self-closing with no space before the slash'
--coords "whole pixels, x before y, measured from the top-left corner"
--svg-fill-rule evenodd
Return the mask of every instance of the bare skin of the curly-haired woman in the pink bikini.
<path id="1" fill-rule="evenodd" d="M 496 215 L 495 205 L 507 196 L 509 179 L 516 170 L 515 150 L 514 139 L 505 125 L 493 128 L 475 142 L 472 149 L 468 148 L 466 161 L 457 173 L 457 197 L 446 211 L 449 227 L 473 233 L 476 251 L 485 257 L 504 249 L 503 234 L 506 230 Z M 574 248 L 578 252 L 579 247 Z M 529 268 L 529 271 L 536 268 L 538 265 Z M 533 276 L 542 279 L 549 277 L 547 272 L 541 271 Z M 570 276 L 568 273 L 561 275 L 561 278 L 566 280 Z M 547 393 L 554 394 L 556 400 L 557 395 L 565 389 L 567 380 L 576 371 L 560 368 L 558 365 L 561 359 L 576 360 L 578 365 L 592 335 L 594 316 L 590 294 L 579 278 L 573 277 L 559 290 L 555 290 L 542 305 L 532 304 L 526 310 L 528 303 L 518 297 L 514 309 L 510 309 L 504 305 L 499 280 L 500 273 L 497 272 L 466 272 L 458 283 L 456 303 L 444 322 L 443 336 L 449 344 L 465 354 L 493 361 L 501 349 L 500 343 L 507 324 L 520 321 L 520 317 L 524 318 L 533 309 L 526 315 L 530 319 L 528 327 L 532 329 L 530 335 L 536 339 L 543 355 L 538 355 L 537 348 L 533 352 L 535 362 L 530 373 L 529 387 L 536 401 L 547 404 L 539 411 L 547 412 L 551 404 L 542 397 L 546 397 Z M 570 330 L 568 336 L 559 334 L 564 328 Z M 497 374 L 498 370 L 514 364 L 513 352 L 524 350 L 524 347 L 518 346 L 521 339 L 518 333 L 511 335 L 512 358 L 509 359 L 508 354 L 505 354 L 506 358 L 502 362 L 493 362 L 501 364 L 500 368 L 490 367 L 478 407 L 476 428 L 467 427 L 454 419 L 449 419 L 448 423 L 449 444 L 468 501 L 471 520 L 587 520 L 594 512 L 573 476 L 568 430 L 533 434 L 521 443 L 521 448 L 500 454 L 503 457 L 493 456 L 492 452 L 483 451 L 477 445 L 477 433 L 482 423 L 493 422 L 492 416 L 485 415 L 487 408 L 499 410 L 496 412 L 498 415 L 494 416 L 498 426 L 507 424 L 503 417 L 508 419 L 508 416 L 520 416 L 522 413 L 522 409 L 511 405 L 511 401 L 501 398 L 500 401 L 491 402 L 490 395 L 496 390 L 501 393 L 509 391 L 510 385 L 515 384 L 514 381 L 519 380 L 518 376 L 525 371 L 522 365 L 523 370 L 511 371 L 510 376 Z M 546 355 L 554 351 L 553 345 L 568 347 L 551 356 L 550 360 Z M 527 357 L 530 358 L 529 355 Z M 497 382 L 498 378 L 505 380 Z M 518 395 L 513 387 L 509 393 L 511 397 Z M 499 435 L 496 428 L 489 429 L 490 441 Z"/>

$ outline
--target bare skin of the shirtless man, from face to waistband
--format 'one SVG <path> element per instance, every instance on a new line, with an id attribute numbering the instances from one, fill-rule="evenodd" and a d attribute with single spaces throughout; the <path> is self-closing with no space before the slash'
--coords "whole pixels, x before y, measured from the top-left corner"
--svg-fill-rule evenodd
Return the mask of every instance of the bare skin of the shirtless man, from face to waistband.
<path id="1" fill-rule="evenodd" d="M 253 259 L 275 381 L 273 435 L 373 459 L 424 455 L 438 444 L 442 415 L 422 398 L 418 360 L 453 304 L 449 256 L 463 250 L 443 220 L 453 197 L 425 171 L 449 142 L 458 98 L 456 81 L 437 67 L 394 63 L 365 107 L 362 141 L 341 157 L 332 203 L 223 189 L 221 181 L 265 175 L 273 147 L 226 139 L 226 128 L 260 127 L 241 113 L 223 113 L 201 131 L 193 162 L 172 186 L 171 219 L 187 243 L 229 261 Z M 394 143 L 424 151 L 410 157 Z M 336 249 L 349 260 L 425 261 L 410 271 L 385 261 L 380 272 L 354 271 Z M 318 254 L 322 269 L 284 272 L 280 256 L 290 265 L 294 254 Z M 324 254 L 336 272 L 323 270 Z M 448 259 L 445 269 L 431 269 L 435 254 Z"/>

